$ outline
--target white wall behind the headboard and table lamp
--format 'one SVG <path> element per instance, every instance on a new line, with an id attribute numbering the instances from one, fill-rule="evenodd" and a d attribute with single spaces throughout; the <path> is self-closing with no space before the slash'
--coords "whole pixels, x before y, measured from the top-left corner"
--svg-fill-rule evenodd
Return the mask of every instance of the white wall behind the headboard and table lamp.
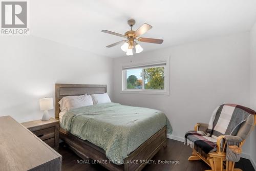
<path id="1" fill-rule="evenodd" d="M 113 59 L 34 36 L 0 38 L 0 116 L 40 119 L 39 98 L 54 97 L 55 83 L 108 84 Z M 54 110 L 49 111 L 54 117 Z"/>

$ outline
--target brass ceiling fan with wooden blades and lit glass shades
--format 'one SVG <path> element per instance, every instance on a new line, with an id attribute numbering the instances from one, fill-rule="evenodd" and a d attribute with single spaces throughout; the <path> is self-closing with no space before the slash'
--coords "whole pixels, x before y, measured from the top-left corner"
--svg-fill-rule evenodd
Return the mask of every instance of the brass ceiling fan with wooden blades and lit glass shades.
<path id="1" fill-rule="evenodd" d="M 126 52 L 126 55 L 133 55 L 133 49 L 135 49 L 136 53 L 140 53 L 143 51 L 143 48 L 135 40 L 142 41 L 142 42 L 150 42 L 152 44 L 162 44 L 163 39 L 139 37 L 140 35 L 146 33 L 148 30 L 152 29 L 151 25 L 144 23 L 142 26 L 140 26 L 140 28 L 134 31 L 133 26 L 135 25 L 135 20 L 130 19 L 128 20 L 127 23 L 131 27 L 131 30 L 125 32 L 124 35 L 115 33 L 112 31 L 108 31 L 108 30 L 102 30 L 103 33 L 109 33 L 115 36 L 126 38 L 125 40 L 121 40 L 121 41 L 115 42 L 114 44 L 106 46 L 106 48 L 111 48 L 113 46 L 122 44 L 122 42 L 124 42 L 124 44 L 121 46 L 122 51 Z"/>

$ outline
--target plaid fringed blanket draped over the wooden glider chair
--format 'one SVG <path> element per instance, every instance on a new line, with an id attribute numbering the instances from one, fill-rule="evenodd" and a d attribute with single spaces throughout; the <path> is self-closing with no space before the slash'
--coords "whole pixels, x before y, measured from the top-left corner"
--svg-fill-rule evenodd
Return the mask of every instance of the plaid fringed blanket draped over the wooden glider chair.
<path id="1" fill-rule="evenodd" d="M 209 152 L 216 151 L 218 136 L 237 135 L 241 123 L 253 114 L 255 111 L 241 105 L 222 104 L 212 113 L 207 132 L 189 131 L 184 143 L 206 158 Z"/>

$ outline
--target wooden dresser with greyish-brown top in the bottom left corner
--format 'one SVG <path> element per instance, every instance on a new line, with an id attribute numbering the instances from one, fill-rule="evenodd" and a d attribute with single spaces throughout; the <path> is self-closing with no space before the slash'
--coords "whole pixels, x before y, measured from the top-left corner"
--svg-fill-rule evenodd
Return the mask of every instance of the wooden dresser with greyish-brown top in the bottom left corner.
<path id="1" fill-rule="evenodd" d="M 10 116 L 0 117 L 0 170 L 61 170 L 62 157 Z"/>

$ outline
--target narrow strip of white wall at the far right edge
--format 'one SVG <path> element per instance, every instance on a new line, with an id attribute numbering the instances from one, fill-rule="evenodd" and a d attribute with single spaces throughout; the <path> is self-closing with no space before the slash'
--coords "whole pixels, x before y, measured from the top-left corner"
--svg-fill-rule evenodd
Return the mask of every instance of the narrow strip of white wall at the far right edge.
<path id="1" fill-rule="evenodd" d="M 256 23 L 250 32 L 250 107 L 256 110 Z M 256 169 L 256 128 L 250 136 L 251 158 Z"/>

